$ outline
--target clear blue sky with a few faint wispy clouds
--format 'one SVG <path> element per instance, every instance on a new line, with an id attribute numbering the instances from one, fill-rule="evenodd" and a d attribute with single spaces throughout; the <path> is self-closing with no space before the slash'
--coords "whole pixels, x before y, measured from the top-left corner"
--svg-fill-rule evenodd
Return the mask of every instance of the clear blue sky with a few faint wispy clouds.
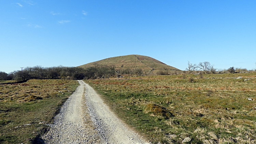
<path id="1" fill-rule="evenodd" d="M 0 71 L 143 55 L 256 68 L 255 0 L 1 0 Z"/>

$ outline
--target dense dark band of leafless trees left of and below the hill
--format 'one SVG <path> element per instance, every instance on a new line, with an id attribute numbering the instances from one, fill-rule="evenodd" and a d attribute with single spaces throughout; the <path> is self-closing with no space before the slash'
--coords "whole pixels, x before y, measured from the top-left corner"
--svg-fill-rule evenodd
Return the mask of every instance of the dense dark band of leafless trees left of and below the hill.
<path id="1" fill-rule="evenodd" d="M 98 65 L 93 67 L 78 68 L 78 67 L 26 67 L 23 70 L 5 73 L 0 71 L 0 80 L 26 80 L 30 78 L 71 78 L 71 79 L 96 79 L 118 77 L 120 74 L 135 74 L 141 75 L 142 69 L 115 69 L 114 65 Z"/>

